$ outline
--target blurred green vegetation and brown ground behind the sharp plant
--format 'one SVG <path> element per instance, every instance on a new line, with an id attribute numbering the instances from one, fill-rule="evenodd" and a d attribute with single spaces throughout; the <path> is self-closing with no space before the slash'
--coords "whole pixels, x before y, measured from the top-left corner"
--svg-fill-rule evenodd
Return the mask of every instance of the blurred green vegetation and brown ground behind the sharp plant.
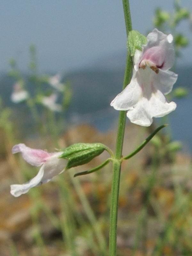
<path id="1" fill-rule="evenodd" d="M 155 12 L 155 27 L 173 34 L 178 56 L 180 49 L 188 46 L 189 42 L 177 28 L 180 22 L 190 21 L 190 18 L 190 12 L 181 7 L 179 1 L 174 1 L 173 12 L 159 8 Z M 9 71 L 14 82 L 19 84 L 19 92 L 27 92 L 25 98 L 15 102 L 15 107 L 22 104 L 28 109 L 34 124 L 31 130 L 38 135 L 24 139 L 28 146 L 51 151 L 55 147 L 64 148 L 78 142 L 101 142 L 114 149 L 115 129 L 101 133 L 89 125 L 65 126 L 64 114 L 72 95 L 70 81 L 63 82 L 57 75 L 39 74 L 36 47 L 31 45 L 29 52 L 27 78 L 22 76 L 14 59 L 10 60 Z M 29 87 L 33 90 L 28 90 Z M 52 103 L 43 101 L 51 100 L 49 97 L 53 94 L 58 94 L 60 101 L 56 102 L 53 97 L 52 103 L 60 111 L 50 108 Z M 180 87 L 174 90 L 172 97 L 181 98 L 186 94 L 186 89 Z M 20 126 L 13 123 L 11 115 L 11 108 L 0 104 L 0 168 L 3 180 L 0 253 L 12 256 L 108 255 L 111 166 L 73 178 L 75 173 L 100 164 L 105 156 L 64 172 L 54 181 L 13 199 L 4 186 L 7 188 L 6 184 L 31 179 L 36 168 L 26 164 L 20 156 L 11 154 L 12 146 L 22 137 L 23 125 L 21 122 Z M 151 131 L 130 124 L 125 132 L 124 155 L 127 155 Z M 118 256 L 191 256 L 191 156 L 180 153 L 180 147 L 180 142 L 172 141 L 166 130 L 157 134 L 138 155 L 123 162 Z"/>

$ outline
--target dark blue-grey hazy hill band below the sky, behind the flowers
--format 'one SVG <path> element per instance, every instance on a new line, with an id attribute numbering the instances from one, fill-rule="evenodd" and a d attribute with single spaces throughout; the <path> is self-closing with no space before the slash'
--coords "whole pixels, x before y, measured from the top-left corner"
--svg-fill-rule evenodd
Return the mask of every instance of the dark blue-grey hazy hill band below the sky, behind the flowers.
<path id="1" fill-rule="evenodd" d="M 174 87 L 191 88 L 192 67 L 177 68 L 179 74 Z M 108 108 L 111 100 L 121 92 L 124 69 L 86 68 L 68 73 L 63 79 L 70 80 L 73 98 L 70 112 L 79 114 L 90 113 Z M 10 100 L 14 80 L 6 74 L 0 76 L 0 96 L 4 106 L 14 106 Z M 32 90 L 32 88 L 29 88 Z"/>

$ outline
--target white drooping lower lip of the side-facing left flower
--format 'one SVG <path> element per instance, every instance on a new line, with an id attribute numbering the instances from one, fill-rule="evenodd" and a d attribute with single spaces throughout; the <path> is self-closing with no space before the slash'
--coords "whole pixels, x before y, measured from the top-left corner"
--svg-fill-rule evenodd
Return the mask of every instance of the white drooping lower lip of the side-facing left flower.
<path id="1" fill-rule="evenodd" d="M 18 197 L 22 194 L 25 194 L 29 191 L 30 188 L 37 186 L 44 175 L 44 165 L 40 168 L 38 174 L 30 181 L 20 185 L 14 184 L 11 185 L 11 194 L 15 197 Z"/>

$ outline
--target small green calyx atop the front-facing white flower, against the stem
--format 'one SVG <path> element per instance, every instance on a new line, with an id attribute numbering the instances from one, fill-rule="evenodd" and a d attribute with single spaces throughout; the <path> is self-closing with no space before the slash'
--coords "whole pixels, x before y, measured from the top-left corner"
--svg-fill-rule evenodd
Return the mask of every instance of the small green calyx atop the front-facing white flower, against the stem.
<path id="1" fill-rule="evenodd" d="M 128 34 L 127 48 L 131 56 L 134 56 L 135 50 L 142 51 L 142 45 L 147 43 L 147 38 L 137 30 L 132 30 Z"/>

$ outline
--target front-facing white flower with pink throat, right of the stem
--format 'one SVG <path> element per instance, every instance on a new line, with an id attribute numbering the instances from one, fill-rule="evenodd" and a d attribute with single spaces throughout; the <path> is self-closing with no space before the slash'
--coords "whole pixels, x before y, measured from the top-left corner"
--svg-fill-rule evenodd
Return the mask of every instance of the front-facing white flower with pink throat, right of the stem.
<path id="1" fill-rule="evenodd" d="M 128 110 L 127 117 L 134 124 L 150 126 L 153 117 L 169 114 L 176 108 L 168 102 L 177 75 L 169 69 L 174 63 L 173 37 L 154 29 L 147 36 L 143 51 L 136 50 L 130 84 L 111 102 L 116 110 Z"/>

